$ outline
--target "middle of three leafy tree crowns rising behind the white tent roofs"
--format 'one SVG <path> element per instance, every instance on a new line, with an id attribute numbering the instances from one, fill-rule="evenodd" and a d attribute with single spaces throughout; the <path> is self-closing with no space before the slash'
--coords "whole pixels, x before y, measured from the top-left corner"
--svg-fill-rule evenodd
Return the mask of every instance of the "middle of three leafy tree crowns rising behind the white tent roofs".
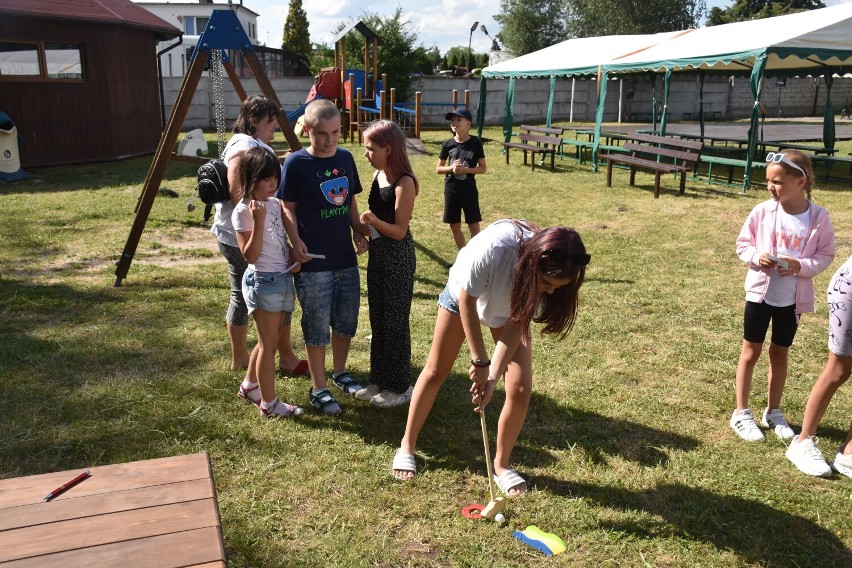
<path id="1" fill-rule="evenodd" d="M 696 28 L 705 0 L 565 0 L 571 37 L 653 34 Z"/>

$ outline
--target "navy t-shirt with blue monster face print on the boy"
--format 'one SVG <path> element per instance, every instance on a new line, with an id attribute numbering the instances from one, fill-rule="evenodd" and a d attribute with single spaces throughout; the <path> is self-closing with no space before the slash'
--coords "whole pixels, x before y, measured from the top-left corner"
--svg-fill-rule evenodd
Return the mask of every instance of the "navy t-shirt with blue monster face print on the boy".
<path id="1" fill-rule="evenodd" d="M 307 150 L 299 150 L 284 161 L 275 196 L 296 203 L 299 237 L 308 252 L 325 255 L 325 259 L 303 264 L 302 272 L 357 265 L 349 213 L 352 197 L 361 191 L 355 160 L 342 148 L 330 158 L 316 158 Z"/>

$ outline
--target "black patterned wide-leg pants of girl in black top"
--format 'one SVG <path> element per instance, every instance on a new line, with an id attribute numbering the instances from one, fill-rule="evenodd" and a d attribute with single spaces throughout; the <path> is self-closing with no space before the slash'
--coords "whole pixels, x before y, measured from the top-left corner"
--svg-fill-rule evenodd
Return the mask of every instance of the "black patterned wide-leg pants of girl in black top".
<path id="1" fill-rule="evenodd" d="M 405 392 L 411 384 L 411 299 L 417 266 L 414 240 L 380 237 L 370 241 L 367 299 L 370 305 L 370 382 Z"/>

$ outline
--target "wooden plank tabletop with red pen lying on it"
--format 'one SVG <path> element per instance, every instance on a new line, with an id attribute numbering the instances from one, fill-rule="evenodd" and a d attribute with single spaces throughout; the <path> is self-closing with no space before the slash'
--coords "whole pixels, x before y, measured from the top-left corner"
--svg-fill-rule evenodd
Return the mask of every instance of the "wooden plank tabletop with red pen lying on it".
<path id="1" fill-rule="evenodd" d="M 210 458 L 198 453 L 0 480 L 0 566 L 225 568 Z"/>

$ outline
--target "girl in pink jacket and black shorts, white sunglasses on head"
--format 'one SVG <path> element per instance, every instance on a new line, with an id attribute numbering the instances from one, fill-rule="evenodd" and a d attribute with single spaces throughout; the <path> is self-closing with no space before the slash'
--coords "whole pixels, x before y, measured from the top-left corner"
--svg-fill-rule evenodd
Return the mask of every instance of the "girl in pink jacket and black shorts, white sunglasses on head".
<path id="1" fill-rule="evenodd" d="M 766 162 L 766 186 L 772 199 L 752 209 L 737 237 L 737 255 L 748 265 L 748 273 L 737 408 L 730 425 L 750 442 L 764 439 L 748 397 L 770 321 L 769 393 L 760 422 L 782 440 L 793 439 L 780 408 L 787 354 L 799 317 L 814 311 L 813 278 L 834 260 L 834 227 L 828 211 L 810 201 L 814 179 L 810 158 L 798 150 L 784 150 L 770 152 Z"/>

